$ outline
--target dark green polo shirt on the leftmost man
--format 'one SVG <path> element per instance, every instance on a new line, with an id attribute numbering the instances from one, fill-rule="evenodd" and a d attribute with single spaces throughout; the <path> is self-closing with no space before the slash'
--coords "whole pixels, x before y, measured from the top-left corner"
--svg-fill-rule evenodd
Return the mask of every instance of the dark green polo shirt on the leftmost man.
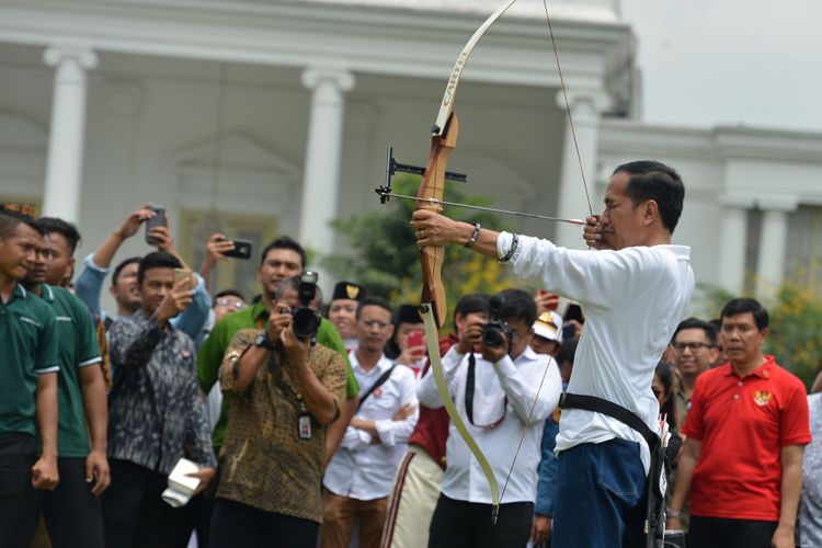
<path id="1" fill-rule="evenodd" d="M 35 434 L 37 376 L 60 369 L 52 307 L 14 287 L 0 302 L 0 438 Z"/>

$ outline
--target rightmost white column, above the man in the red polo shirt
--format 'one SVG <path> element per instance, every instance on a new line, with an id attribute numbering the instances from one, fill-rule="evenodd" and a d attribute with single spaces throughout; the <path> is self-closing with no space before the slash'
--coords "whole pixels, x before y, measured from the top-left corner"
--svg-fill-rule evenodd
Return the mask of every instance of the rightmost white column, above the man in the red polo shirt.
<path id="1" fill-rule="evenodd" d="M 774 295 L 785 277 L 785 256 L 788 243 L 788 214 L 796 209 L 796 203 L 767 204 L 762 212 L 760 249 L 756 261 L 757 289 L 765 295 Z M 765 209 L 767 207 L 767 209 Z"/>

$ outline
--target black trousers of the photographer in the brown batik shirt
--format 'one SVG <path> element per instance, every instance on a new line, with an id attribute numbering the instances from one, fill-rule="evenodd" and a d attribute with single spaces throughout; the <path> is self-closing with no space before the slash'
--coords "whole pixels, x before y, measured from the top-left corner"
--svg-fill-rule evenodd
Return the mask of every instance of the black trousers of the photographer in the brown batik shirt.
<path id="1" fill-rule="evenodd" d="M 317 548 L 320 524 L 215 499 L 209 548 Z"/>

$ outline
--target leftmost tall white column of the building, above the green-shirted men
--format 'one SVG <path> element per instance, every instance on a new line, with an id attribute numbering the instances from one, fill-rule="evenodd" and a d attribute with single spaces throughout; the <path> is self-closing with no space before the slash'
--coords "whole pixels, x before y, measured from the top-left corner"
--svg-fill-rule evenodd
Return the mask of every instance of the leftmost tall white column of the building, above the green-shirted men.
<path id="1" fill-rule="evenodd" d="M 96 67 L 98 56 L 90 49 L 49 47 L 43 61 L 55 67 L 43 215 L 77 222 L 85 139 L 85 71 Z"/>

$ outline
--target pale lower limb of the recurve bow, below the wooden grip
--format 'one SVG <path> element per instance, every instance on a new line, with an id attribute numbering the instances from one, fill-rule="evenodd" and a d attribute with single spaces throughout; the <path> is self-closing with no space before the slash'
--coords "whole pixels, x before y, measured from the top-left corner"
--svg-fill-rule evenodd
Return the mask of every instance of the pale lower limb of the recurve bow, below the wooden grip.
<path id="1" fill-rule="evenodd" d="M 434 375 L 436 389 L 439 392 L 439 397 L 442 398 L 443 403 L 445 404 L 445 410 L 447 411 L 448 416 L 450 416 L 452 424 L 454 424 L 454 427 L 457 429 L 457 432 L 459 432 L 459 435 L 465 441 L 468 449 L 477 458 L 477 463 L 480 465 L 480 468 L 482 468 L 482 472 L 488 479 L 488 486 L 491 489 L 491 504 L 493 506 L 491 520 L 493 523 L 496 523 L 496 516 L 500 513 L 500 486 L 496 482 L 496 477 L 494 476 L 493 469 L 486 458 L 486 455 L 482 453 L 482 450 L 479 448 L 479 445 L 477 445 L 477 442 L 468 432 L 468 427 L 466 427 L 463 418 L 459 416 L 459 413 L 457 412 L 457 408 L 454 404 L 454 401 L 450 399 L 450 395 L 448 392 L 448 383 L 445 380 L 445 374 L 443 373 L 443 363 L 439 359 L 439 347 L 437 345 L 437 327 L 434 321 L 433 308 L 427 305 L 422 305 L 420 307 L 420 310 L 422 313 L 423 323 L 425 326 L 425 344 L 429 347 L 429 356 L 431 357 L 431 374 Z"/>

